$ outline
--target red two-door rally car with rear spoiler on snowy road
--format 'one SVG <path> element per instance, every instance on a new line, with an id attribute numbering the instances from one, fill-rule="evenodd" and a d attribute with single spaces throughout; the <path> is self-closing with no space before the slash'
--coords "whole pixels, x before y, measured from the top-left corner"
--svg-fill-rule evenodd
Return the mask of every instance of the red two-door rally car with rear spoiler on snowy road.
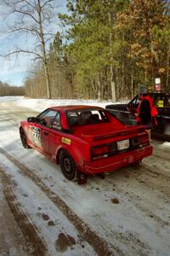
<path id="1" fill-rule="evenodd" d="M 69 180 L 112 172 L 152 154 L 145 126 L 122 124 L 109 111 L 89 106 L 48 108 L 20 122 L 24 148 L 60 164 Z"/>

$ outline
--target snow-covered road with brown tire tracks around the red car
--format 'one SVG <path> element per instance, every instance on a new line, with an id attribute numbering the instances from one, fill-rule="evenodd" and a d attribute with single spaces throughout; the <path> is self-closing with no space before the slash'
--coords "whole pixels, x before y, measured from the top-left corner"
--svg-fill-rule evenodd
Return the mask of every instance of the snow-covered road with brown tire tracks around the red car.
<path id="1" fill-rule="evenodd" d="M 18 124 L 36 114 L 0 102 L 0 255 L 169 255 L 170 148 L 79 186 L 22 147 Z"/>

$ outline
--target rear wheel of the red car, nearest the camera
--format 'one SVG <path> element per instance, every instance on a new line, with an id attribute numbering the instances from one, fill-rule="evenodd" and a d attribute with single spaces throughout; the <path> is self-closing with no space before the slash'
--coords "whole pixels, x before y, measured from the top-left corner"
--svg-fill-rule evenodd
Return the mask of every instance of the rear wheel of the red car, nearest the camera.
<path id="1" fill-rule="evenodd" d="M 77 179 L 77 166 L 72 159 L 71 154 L 66 150 L 62 150 L 59 154 L 59 164 L 64 176 L 69 180 Z"/>

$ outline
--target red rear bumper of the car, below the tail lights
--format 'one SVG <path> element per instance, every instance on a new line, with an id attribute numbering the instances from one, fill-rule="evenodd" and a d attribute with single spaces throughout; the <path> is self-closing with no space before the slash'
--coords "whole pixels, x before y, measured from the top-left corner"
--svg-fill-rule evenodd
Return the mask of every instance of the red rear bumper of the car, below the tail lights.
<path id="1" fill-rule="evenodd" d="M 117 154 L 112 157 L 104 158 L 102 160 L 94 160 L 86 164 L 82 172 L 88 175 L 98 174 L 102 172 L 113 172 L 116 169 L 128 166 L 134 162 L 142 160 L 144 157 L 152 154 L 152 146 L 136 149 L 131 152 Z"/>

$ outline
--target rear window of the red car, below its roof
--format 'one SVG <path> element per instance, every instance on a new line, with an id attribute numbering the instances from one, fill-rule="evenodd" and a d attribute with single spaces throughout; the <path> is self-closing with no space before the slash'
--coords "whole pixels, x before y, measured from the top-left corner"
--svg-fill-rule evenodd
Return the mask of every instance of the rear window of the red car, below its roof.
<path id="1" fill-rule="evenodd" d="M 67 111 L 68 124 L 74 125 L 93 125 L 109 122 L 105 110 L 99 109 L 81 109 Z"/>

